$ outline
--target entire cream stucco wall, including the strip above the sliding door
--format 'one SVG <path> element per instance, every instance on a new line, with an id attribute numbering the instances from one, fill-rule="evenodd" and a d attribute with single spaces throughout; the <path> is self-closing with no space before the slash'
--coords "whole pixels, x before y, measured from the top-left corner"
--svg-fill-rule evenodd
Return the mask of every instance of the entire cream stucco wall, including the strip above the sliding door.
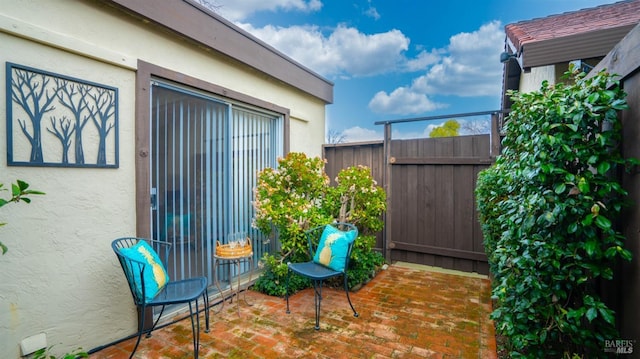
<path id="1" fill-rule="evenodd" d="M 0 182 L 46 192 L 0 209 L 0 358 L 45 333 L 54 353 L 132 334 L 135 308 L 110 248 L 134 235 L 137 59 L 289 108 L 291 151 L 318 156 L 324 103 L 227 59 L 91 2 L 0 0 L 0 62 L 118 88 L 117 169 L 7 166 L 6 79 L 0 72 Z M 6 198 L 8 194 L 0 194 Z"/>

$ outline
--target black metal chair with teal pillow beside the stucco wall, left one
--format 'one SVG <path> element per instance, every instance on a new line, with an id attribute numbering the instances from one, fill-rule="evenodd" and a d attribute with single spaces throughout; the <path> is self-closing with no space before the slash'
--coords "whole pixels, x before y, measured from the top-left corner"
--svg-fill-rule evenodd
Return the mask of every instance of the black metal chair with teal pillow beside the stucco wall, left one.
<path id="1" fill-rule="evenodd" d="M 158 251 L 154 250 L 158 248 Z M 198 358 L 200 345 L 200 310 L 199 299 L 204 301 L 204 313 L 206 329 L 209 332 L 209 293 L 207 291 L 208 280 L 206 277 L 194 277 L 183 280 L 170 281 L 163 263 L 167 263 L 171 243 L 144 240 L 142 238 L 126 237 L 114 240 L 111 248 L 118 256 L 122 270 L 124 271 L 129 289 L 133 295 L 133 301 L 138 309 L 138 340 L 129 358 L 133 358 L 140 338 L 143 333 L 151 336 L 162 313 L 167 305 L 189 304 L 189 316 L 191 318 L 191 330 L 193 333 L 194 357 Z M 162 253 L 160 259 L 158 252 Z M 194 322 L 194 305 L 196 321 Z M 161 306 L 158 315 L 151 328 L 145 328 L 146 309 Z"/>

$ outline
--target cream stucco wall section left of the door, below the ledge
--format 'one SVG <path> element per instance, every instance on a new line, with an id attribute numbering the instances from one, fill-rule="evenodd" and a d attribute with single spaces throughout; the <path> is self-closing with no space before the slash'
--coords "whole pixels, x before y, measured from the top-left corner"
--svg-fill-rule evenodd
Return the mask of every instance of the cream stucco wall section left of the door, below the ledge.
<path id="1" fill-rule="evenodd" d="M 122 290 L 122 275 L 109 247 L 111 239 L 135 233 L 135 74 L 51 47 L 25 46 L 24 40 L 3 33 L 0 43 L 11 49 L 0 55 L 3 67 L 5 61 L 20 63 L 119 89 L 120 168 L 7 167 L 6 156 L 0 156 L 0 182 L 5 186 L 23 179 L 46 192 L 31 204 L 0 209 L 0 219 L 8 223 L 0 228 L 0 238 L 9 247 L 0 257 L 0 357 L 17 358 L 20 341 L 41 332 L 56 349 L 90 349 L 106 338 L 130 334 L 135 326 L 131 298 Z M 6 83 L 5 71 L 0 83 Z M 0 94 L 4 153 L 4 86 Z"/>

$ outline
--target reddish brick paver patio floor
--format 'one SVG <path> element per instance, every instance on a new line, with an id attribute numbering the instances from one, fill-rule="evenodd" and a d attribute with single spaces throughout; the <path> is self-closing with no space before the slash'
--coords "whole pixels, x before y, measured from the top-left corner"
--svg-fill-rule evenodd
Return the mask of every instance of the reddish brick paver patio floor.
<path id="1" fill-rule="evenodd" d="M 496 358 L 490 282 L 403 264 L 391 265 L 359 291 L 353 317 L 343 291 L 323 290 L 319 331 L 313 290 L 284 299 L 249 291 L 201 332 L 201 358 Z M 202 324 L 204 327 L 204 323 Z M 108 347 L 92 359 L 127 358 L 135 339 Z M 188 319 L 142 338 L 136 358 L 193 358 Z"/>

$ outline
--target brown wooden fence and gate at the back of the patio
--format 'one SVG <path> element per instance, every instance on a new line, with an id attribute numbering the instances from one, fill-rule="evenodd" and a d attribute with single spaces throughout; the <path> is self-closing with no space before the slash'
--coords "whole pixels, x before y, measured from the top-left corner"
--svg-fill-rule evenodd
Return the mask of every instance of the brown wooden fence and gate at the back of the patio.
<path id="1" fill-rule="evenodd" d="M 385 188 L 385 230 L 376 246 L 387 260 L 488 274 L 474 191 L 478 173 L 493 161 L 490 139 L 325 145 L 323 155 L 330 178 L 342 168 L 366 165 Z"/>

